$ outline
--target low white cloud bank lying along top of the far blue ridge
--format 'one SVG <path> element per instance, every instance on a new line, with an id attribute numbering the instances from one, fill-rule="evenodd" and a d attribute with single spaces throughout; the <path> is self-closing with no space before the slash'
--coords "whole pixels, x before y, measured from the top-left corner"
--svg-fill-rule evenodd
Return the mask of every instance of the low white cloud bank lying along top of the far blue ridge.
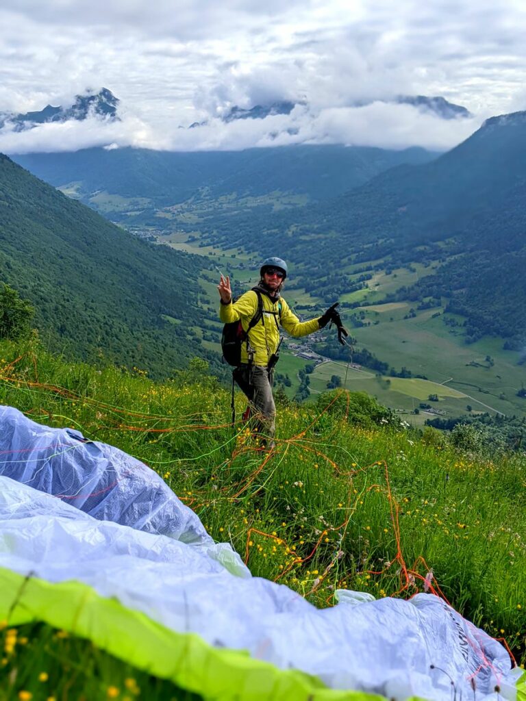
<path id="1" fill-rule="evenodd" d="M 235 151 L 290 144 L 348 144 L 405 149 L 420 146 L 445 151 L 466 139 L 481 118 L 443 120 L 407 104 L 374 102 L 364 107 L 330 107 L 313 111 L 297 105 L 291 114 L 224 123 L 213 118 L 184 129 L 175 125 L 152 129 L 131 114 L 121 122 L 94 116 L 86 121 L 50 123 L 25 132 L 2 130 L 0 151 L 74 151 L 93 146 L 141 147 L 169 151 Z"/>

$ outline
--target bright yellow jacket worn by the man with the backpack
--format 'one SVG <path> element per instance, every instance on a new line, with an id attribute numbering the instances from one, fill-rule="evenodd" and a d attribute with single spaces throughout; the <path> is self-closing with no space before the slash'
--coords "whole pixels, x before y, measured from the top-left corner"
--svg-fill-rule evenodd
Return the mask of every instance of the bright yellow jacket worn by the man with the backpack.
<path id="1" fill-rule="evenodd" d="M 307 336 L 315 331 L 318 331 L 320 325 L 318 319 L 301 322 L 295 313 L 293 313 L 283 297 L 279 297 L 273 302 L 268 294 L 262 292 L 263 314 L 261 320 L 250 329 L 249 341 L 252 348 L 255 349 L 255 365 L 265 366 L 269 362 L 272 353 L 276 353 L 278 348 L 280 332 L 278 324 L 290 336 Z M 281 313 L 280 308 L 281 306 Z M 233 321 L 241 319 L 241 325 L 246 331 L 250 320 L 257 312 L 257 294 L 253 290 L 249 290 L 242 294 L 235 302 L 230 304 L 221 304 L 220 319 L 224 324 L 229 324 Z M 277 322 L 277 323 L 276 323 Z M 247 344 L 243 341 L 241 346 L 241 362 L 248 362 Z"/>

